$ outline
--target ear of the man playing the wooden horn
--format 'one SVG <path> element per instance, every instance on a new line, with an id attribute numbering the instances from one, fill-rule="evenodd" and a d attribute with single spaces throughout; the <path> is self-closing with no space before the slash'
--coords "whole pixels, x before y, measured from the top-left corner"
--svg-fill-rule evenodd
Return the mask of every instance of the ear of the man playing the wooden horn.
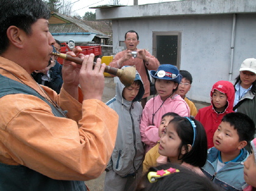
<path id="1" fill-rule="evenodd" d="M 10 26 L 7 29 L 7 38 L 9 38 L 9 41 L 13 46 L 19 48 L 23 47 L 24 35 L 26 35 L 26 33 L 16 26 Z"/>

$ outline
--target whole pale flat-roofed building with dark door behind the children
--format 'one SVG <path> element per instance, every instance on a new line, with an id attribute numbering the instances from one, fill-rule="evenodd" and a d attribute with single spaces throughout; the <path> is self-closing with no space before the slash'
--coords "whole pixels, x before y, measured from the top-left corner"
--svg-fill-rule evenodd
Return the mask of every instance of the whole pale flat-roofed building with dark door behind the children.
<path id="1" fill-rule="evenodd" d="M 193 76 L 188 97 L 210 102 L 218 80 L 234 80 L 241 63 L 256 57 L 256 1 L 185 0 L 97 9 L 112 20 L 113 55 L 125 49 L 124 34 L 135 30 L 138 48 L 161 64 L 174 64 Z"/>

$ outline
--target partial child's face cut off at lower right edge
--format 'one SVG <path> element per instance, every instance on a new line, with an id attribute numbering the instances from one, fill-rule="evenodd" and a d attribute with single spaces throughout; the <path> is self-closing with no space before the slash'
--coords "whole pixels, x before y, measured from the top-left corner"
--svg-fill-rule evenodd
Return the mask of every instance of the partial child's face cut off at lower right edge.
<path id="1" fill-rule="evenodd" d="M 254 150 L 244 162 L 244 180 L 247 184 L 256 187 L 256 163 Z"/>

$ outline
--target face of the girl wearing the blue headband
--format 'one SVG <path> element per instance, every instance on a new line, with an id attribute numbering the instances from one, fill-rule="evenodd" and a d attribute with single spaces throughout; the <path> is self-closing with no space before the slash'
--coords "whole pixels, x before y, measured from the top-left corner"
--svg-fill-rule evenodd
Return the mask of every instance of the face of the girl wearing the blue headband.
<path id="1" fill-rule="evenodd" d="M 169 123 L 160 139 L 158 153 L 163 156 L 168 156 L 171 162 L 177 162 L 181 142 L 174 125 Z"/>

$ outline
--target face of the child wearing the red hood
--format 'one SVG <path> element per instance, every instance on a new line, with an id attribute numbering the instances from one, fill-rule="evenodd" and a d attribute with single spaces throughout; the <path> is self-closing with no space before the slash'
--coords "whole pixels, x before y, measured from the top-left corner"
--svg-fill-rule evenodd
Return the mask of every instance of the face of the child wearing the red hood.
<path id="1" fill-rule="evenodd" d="M 215 106 L 215 110 L 222 112 L 226 109 L 227 105 L 227 96 L 222 92 L 219 92 L 215 89 L 213 92 L 213 105 Z"/>

